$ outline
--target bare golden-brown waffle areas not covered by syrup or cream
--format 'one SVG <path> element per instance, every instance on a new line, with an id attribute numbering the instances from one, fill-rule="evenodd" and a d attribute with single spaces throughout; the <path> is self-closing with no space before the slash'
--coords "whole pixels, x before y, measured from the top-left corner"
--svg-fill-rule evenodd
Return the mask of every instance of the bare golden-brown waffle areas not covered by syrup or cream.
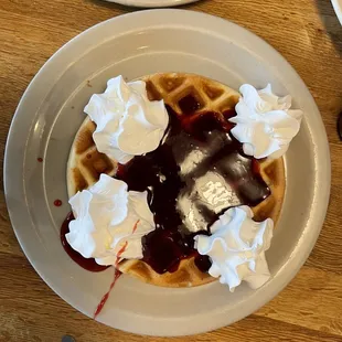
<path id="1" fill-rule="evenodd" d="M 233 109 L 239 94 L 232 88 L 203 76 L 182 73 L 162 73 L 141 77 L 147 84 L 150 100 L 163 99 L 177 114 L 184 115 L 179 106 L 188 96 L 199 103 L 199 113 L 224 113 Z M 70 197 L 77 191 L 87 189 L 99 180 L 101 173 L 115 177 L 117 162 L 99 153 L 93 140 L 95 124 L 84 120 L 75 136 L 67 162 L 67 190 Z M 260 175 L 268 184 L 271 194 L 260 204 L 253 207 L 255 220 L 267 217 L 277 220 L 280 214 L 285 194 L 285 167 L 282 158 L 260 161 Z M 194 258 L 183 259 L 174 272 L 156 272 L 142 260 L 122 260 L 118 268 L 121 272 L 136 277 L 145 282 L 162 287 L 194 287 L 216 280 L 202 272 L 194 264 Z"/>

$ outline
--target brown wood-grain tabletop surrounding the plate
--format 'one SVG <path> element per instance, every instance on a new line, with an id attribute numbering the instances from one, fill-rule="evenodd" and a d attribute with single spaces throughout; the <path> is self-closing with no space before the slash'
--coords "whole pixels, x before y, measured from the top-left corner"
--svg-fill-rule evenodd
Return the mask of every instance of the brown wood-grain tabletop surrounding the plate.
<path id="1" fill-rule="evenodd" d="M 231 20 L 276 47 L 303 78 L 321 110 L 332 157 L 325 224 L 291 284 L 250 317 L 189 338 L 148 338 L 110 329 L 77 312 L 23 255 L 0 194 L 0 341 L 342 341 L 342 29 L 329 0 L 203 0 L 183 8 Z M 106 19 L 137 9 L 97 0 L 0 0 L 0 149 L 20 97 L 64 43 Z"/>

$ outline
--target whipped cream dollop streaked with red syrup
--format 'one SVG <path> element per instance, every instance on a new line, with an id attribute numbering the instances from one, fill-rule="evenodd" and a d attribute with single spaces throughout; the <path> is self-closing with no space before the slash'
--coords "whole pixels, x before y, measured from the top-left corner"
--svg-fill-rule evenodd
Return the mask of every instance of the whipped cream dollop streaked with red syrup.
<path id="1" fill-rule="evenodd" d="M 142 258 L 141 237 L 154 229 L 147 192 L 127 191 L 127 184 L 107 174 L 70 200 L 75 220 L 65 235 L 68 244 L 99 265 Z"/>

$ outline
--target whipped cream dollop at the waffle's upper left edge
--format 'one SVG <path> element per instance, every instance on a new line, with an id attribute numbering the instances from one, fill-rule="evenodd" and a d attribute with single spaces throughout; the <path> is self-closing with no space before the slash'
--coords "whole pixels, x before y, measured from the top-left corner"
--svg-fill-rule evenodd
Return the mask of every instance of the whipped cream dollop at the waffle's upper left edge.
<path id="1" fill-rule="evenodd" d="M 158 148 L 169 124 L 163 100 L 150 101 L 146 83 L 111 78 L 103 94 L 94 94 L 84 111 L 96 124 L 93 139 L 99 152 L 127 163 Z"/>

